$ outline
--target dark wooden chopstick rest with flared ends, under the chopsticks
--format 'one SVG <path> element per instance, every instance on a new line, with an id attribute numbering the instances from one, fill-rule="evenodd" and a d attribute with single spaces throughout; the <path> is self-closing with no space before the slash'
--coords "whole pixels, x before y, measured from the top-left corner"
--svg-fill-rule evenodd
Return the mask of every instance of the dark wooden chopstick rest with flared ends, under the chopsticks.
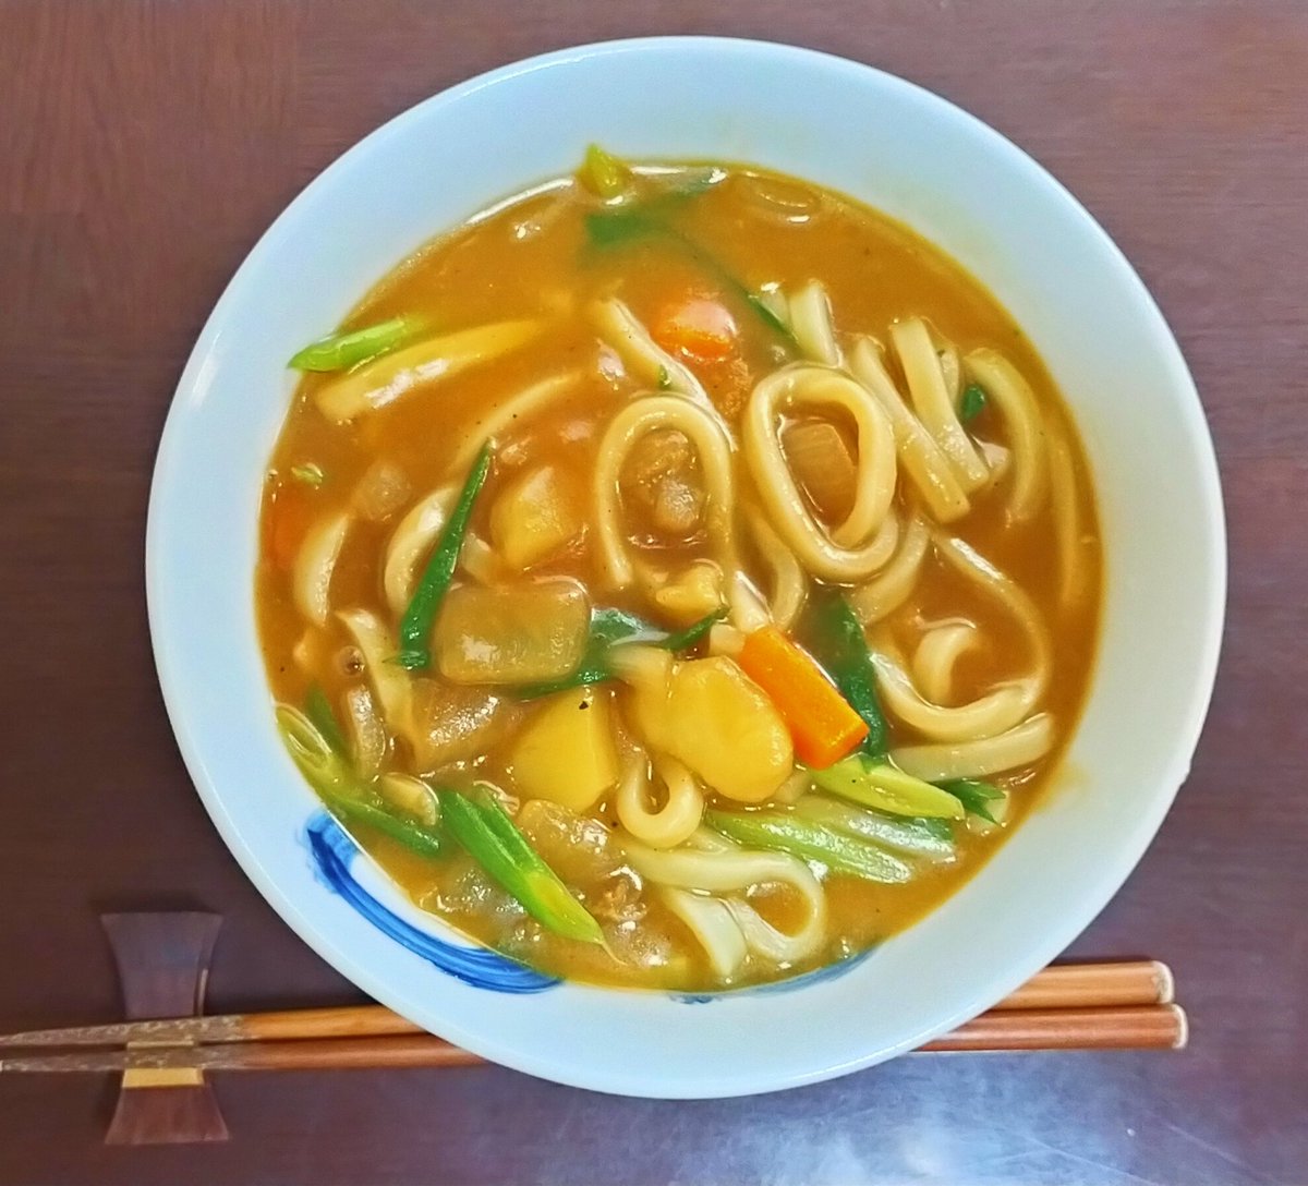
<path id="1" fill-rule="evenodd" d="M 129 1019 L 192 1017 L 204 1006 L 217 914 L 102 914 Z M 162 1040 L 173 1045 L 171 1040 Z M 144 1050 L 149 1037 L 128 1043 Z M 106 1144 L 226 1140 L 228 1126 L 199 1067 L 133 1067 L 123 1072 Z"/>

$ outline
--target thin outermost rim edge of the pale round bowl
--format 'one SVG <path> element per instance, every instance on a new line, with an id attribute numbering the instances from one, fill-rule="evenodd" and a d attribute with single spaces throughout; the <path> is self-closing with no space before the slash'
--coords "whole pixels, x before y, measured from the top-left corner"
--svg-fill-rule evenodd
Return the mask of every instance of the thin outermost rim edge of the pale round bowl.
<path id="1" fill-rule="evenodd" d="M 1028 153 L 1018 148 L 1002 133 L 957 107 L 948 99 L 926 90 L 925 88 L 891 75 L 878 67 L 853 61 L 836 55 L 816 50 L 797 47 L 791 44 L 755 41 L 746 38 L 726 37 L 642 37 L 616 41 L 594 42 L 582 46 L 572 46 L 555 50 L 547 54 L 535 55 L 521 61 L 509 63 L 498 68 L 487 71 L 451 88 L 438 92 L 422 99 L 404 111 L 399 112 L 381 127 L 362 137 L 348 148 L 326 169 L 323 169 L 303 190 L 281 211 L 268 229 L 260 235 L 250 248 L 246 258 L 237 268 L 232 280 L 225 286 L 218 301 L 215 303 L 204 328 L 198 336 L 191 350 L 186 367 L 178 381 L 177 390 L 170 400 L 167 418 L 160 439 L 156 456 L 154 472 L 150 485 L 149 511 L 146 524 L 145 549 L 145 578 L 146 578 L 146 604 L 149 613 L 149 628 L 152 647 L 158 671 L 160 685 L 169 714 L 169 720 L 177 737 L 187 771 L 195 785 L 201 802 L 215 822 L 228 849 L 237 859 L 245 875 L 251 880 L 260 894 L 268 901 L 283 921 L 322 958 L 336 970 L 362 987 L 377 1000 L 392 1008 L 402 1008 L 396 994 L 391 986 L 381 977 L 374 975 L 371 969 L 365 966 L 358 958 L 345 951 L 317 921 L 301 909 L 301 906 L 277 885 L 273 877 L 263 868 L 252 855 L 241 834 L 241 829 L 229 813 L 224 796 L 213 781 L 211 781 L 200 752 L 200 741 L 192 728 L 190 714 L 192 705 L 182 692 L 182 679 L 177 671 L 177 659 L 170 652 L 166 642 L 165 609 L 162 607 L 164 582 L 166 579 L 166 564 L 164 548 L 164 527 L 166 501 L 170 497 L 170 484 L 173 481 L 173 458 L 177 454 L 182 434 L 186 432 L 183 416 L 183 395 L 196 386 L 201 379 L 201 370 L 207 358 L 222 333 L 224 323 L 232 307 L 241 299 L 246 279 L 254 269 L 254 262 L 271 251 L 280 238 L 289 234 L 290 225 L 298 217 L 301 208 L 311 200 L 320 190 L 328 188 L 336 177 L 349 169 L 351 160 L 364 152 L 366 146 L 399 133 L 407 122 L 417 118 L 417 112 L 429 110 L 436 105 L 453 105 L 479 90 L 511 81 L 514 78 L 543 71 L 572 61 L 589 60 L 595 58 L 608 58 L 628 54 L 644 54 L 649 51 L 666 52 L 672 50 L 687 50 L 693 52 L 729 54 L 729 55 L 761 55 L 773 61 L 785 60 L 800 71 L 825 69 L 846 76 L 859 76 L 867 78 L 876 76 L 882 85 L 903 89 L 906 97 L 917 103 L 925 103 L 933 109 L 933 114 L 951 120 L 964 128 L 969 135 L 980 137 L 986 148 L 1003 158 L 1007 167 L 1018 171 L 1027 184 L 1045 190 L 1056 197 L 1067 212 L 1067 216 L 1078 220 L 1083 230 L 1088 231 L 1097 241 L 1100 250 L 1105 250 L 1112 256 L 1118 280 L 1134 292 L 1141 313 L 1150 319 L 1147 327 L 1152 347 L 1159 352 L 1160 361 L 1167 369 L 1169 382 L 1182 398 L 1190 403 L 1196 416 L 1188 416 L 1184 425 L 1189 434 L 1189 445 L 1194 450 L 1194 460 L 1198 467 L 1203 486 L 1205 506 L 1202 522 L 1206 528 L 1203 540 L 1210 560 L 1207 582 L 1203 588 L 1202 601 L 1197 599 L 1196 613 L 1202 613 L 1206 628 L 1202 639 L 1202 652 L 1196 659 L 1198 679 L 1190 689 L 1189 701 L 1184 709 L 1185 728 L 1181 730 L 1171 751 L 1168 761 L 1168 775 L 1165 792 L 1159 792 L 1152 800 L 1147 812 L 1142 813 L 1130 829 L 1124 833 L 1121 843 L 1117 846 L 1121 859 L 1112 866 L 1100 870 L 1100 873 L 1083 888 L 1079 902 L 1082 907 L 1063 921 L 1063 926 L 1053 928 L 1041 936 L 1041 941 L 1028 944 L 1027 958 L 1015 964 L 1008 974 L 993 977 L 993 989 L 1001 981 L 1010 989 L 1016 987 L 1028 975 L 1062 952 L 1075 936 L 1103 910 L 1107 902 L 1121 888 L 1130 876 L 1148 843 L 1158 832 L 1163 817 L 1169 809 L 1180 785 L 1184 782 L 1189 764 L 1193 758 L 1194 748 L 1203 726 L 1207 707 L 1211 700 L 1216 666 L 1220 650 L 1220 641 L 1224 626 L 1224 608 L 1227 594 L 1227 548 L 1226 548 L 1226 520 L 1220 496 L 1220 479 L 1216 466 L 1216 456 L 1213 447 L 1211 433 L 1207 428 L 1198 392 L 1193 378 L 1185 365 L 1180 347 L 1176 343 L 1171 328 L 1167 326 L 1162 311 L 1143 281 L 1117 247 L 1107 231 L 1088 213 L 1088 211 L 1063 187 L 1049 171 L 1039 165 Z M 530 180 L 530 179 L 526 179 Z M 497 195 L 488 195 L 493 200 Z M 438 229 L 437 229 L 438 230 Z M 1181 425 L 1179 425 L 1181 428 Z M 596 990 L 610 991 L 610 990 Z M 751 1094 L 756 1092 L 776 1091 L 795 1087 L 806 1083 L 821 1081 L 887 1058 L 914 1049 L 923 1041 L 930 1040 L 954 1025 L 972 1016 L 978 1008 L 990 1003 L 993 992 L 986 992 L 986 1000 L 963 1002 L 961 1006 L 948 1011 L 939 1019 L 939 1024 L 930 1029 L 905 1034 L 901 1041 L 874 1050 L 861 1053 L 838 1063 L 828 1063 L 818 1067 L 798 1067 L 785 1072 L 769 1075 L 756 1075 L 749 1081 L 739 1081 L 731 1076 L 712 1076 L 693 1084 L 659 1083 L 654 1089 L 642 1079 L 637 1068 L 630 1072 L 586 1072 L 577 1074 L 572 1068 L 560 1070 L 549 1058 L 525 1054 L 513 1045 L 506 1045 L 497 1040 L 497 1034 L 485 1030 L 471 1033 L 462 1026 L 442 1024 L 442 1032 L 459 1045 L 473 1050 L 497 1063 L 526 1071 L 555 1081 L 585 1087 L 599 1091 L 608 1091 L 624 1094 L 663 1096 L 700 1098 L 708 1096 L 735 1096 Z M 412 1009 L 403 1009 L 412 1012 Z M 419 1019 L 421 1021 L 421 1019 Z"/>

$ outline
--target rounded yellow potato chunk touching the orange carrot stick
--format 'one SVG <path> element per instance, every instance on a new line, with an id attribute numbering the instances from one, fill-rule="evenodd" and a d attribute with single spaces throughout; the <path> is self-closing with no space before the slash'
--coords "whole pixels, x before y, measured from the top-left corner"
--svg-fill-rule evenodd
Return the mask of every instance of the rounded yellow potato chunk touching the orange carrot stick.
<path id="1" fill-rule="evenodd" d="M 760 803 L 790 775 L 790 732 L 772 701 L 723 656 L 692 659 L 666 689 L 637 689 L 636 723 L 649 744 L 729 799 Z"/>

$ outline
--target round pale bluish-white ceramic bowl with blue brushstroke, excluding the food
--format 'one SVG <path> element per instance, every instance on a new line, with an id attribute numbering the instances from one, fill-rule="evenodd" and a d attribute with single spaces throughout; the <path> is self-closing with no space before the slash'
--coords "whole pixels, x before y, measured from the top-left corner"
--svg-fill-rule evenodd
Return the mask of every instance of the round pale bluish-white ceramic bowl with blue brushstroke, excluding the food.
<path id="1" fill-rule="evenodd" d="M 590 140 L 633 157 L 757 162 L 916 228 L 1029 333 L 1090 452 L 1108 595 L 1070 756 L 1078 779 L 961 893 L 841 975 L 708 1003 L 515 975 L 351 860 L 273 730 L 251 574 L 264 466 L 292 390 L 285 360 L 430 235 L 570 170 Z M 1075 199 L 908 82 L 806 50 L 701 38 L 565 50 L 484 75 L 400 115 L 309 186 L 241 265 L 178 384 L 146 577 L 187 768 L 228 846 L 301 938 L 378 1000 L 487 1058 L 672 1097 L 866 1067 L 1056 957 L 1130 873 L 1186 775 L 1226 592 L 1220 490 L 1190 375 L 1139 279 Z"/>

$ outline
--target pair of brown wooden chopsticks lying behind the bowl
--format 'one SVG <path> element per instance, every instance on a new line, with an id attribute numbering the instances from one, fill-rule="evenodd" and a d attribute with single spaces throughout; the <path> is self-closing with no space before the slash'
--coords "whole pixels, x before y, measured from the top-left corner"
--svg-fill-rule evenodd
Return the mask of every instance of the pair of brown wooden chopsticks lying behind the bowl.
<path id="1" fill-rule="evenodd" d="M 1186 1020 L 1165 964 L 1056 964 L 922 1050 L 1179 1050 Z M 58 1054 L 52 1047 L 82 1047 Z M 122 1021 L 0 1037 L 4 1071 L 307 1071 L 467 1067 L 477 1055 L 382 1006 Z M 123 1049 L 88 1049 L 123 1047 Z"/>

